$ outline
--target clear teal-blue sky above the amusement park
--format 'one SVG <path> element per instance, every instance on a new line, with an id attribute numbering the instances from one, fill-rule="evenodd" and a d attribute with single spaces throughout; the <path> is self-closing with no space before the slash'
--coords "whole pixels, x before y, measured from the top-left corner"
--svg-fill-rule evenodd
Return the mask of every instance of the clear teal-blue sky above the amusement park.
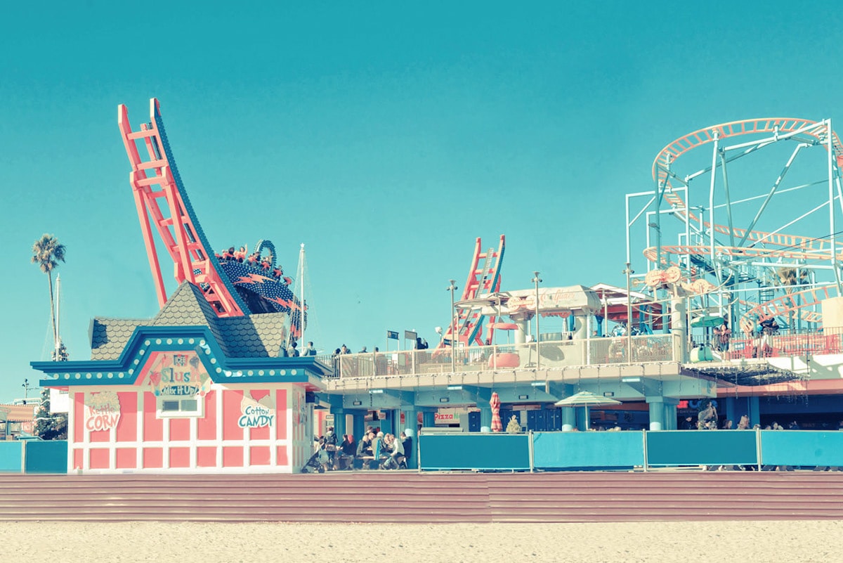
<path id="1" fill-rule="evenodd" d="M 506 289 L 622 285 L 624 194 L 668 142 L 843 118 L 828 3 L 24 4 L 0 39 L 0 402 L 49 349 L 41 233 L 67 245 L 72 359 L 92 317 L 157 312 L 118 104 L 137 129 L 160 99 L 215 249 L 271 239 L 292 271 L 307 245 L 311 335 L 353 350 L 435 340 L 476 237 L 507 235 Z"/>

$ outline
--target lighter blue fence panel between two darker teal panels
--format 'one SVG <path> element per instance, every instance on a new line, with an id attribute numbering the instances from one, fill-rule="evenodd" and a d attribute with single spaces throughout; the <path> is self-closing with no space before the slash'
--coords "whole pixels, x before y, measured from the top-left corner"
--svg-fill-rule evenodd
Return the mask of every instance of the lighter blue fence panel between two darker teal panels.
<path id="1" fill-rule="evenodd" d="M 535 432 L 536 469 L 620 468 L 644 464 L 642 432 Z"/>

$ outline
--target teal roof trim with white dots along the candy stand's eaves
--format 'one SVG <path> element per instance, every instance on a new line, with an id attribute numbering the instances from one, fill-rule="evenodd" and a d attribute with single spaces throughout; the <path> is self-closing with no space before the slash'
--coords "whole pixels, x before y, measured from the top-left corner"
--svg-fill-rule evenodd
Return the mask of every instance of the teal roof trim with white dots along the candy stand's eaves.
<path id="1" fill-rule="evenodd" d="M 309 383 L 330 373 L 314 357 L 228 358 L 207 326 L 139 326 L 117 360 L 30 365 L 55 376 L 41 379 L 41 387 L 133 385 L 148 354 L 185 350 L 196 351 L 214 383 Z"/>

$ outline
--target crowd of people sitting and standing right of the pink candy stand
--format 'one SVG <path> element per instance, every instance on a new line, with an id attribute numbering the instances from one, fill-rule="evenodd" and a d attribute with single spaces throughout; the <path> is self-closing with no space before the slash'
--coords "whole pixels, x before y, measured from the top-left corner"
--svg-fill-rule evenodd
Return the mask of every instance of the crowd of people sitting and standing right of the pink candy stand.
<path id="1" fill-rule="evenodd" d="M 407 469 L 412 455 L 412 443 L 412 437 L 407 436 L 406 432 L 396 437 L 374 426 L 368 426 L 359 442 L 352 434 L 343 434 L 340 442 L 334 426 L 329 426 L 324 436 L 314 438 L 314 456 L 311 460 L 315 459 L 325 471 Z"/>

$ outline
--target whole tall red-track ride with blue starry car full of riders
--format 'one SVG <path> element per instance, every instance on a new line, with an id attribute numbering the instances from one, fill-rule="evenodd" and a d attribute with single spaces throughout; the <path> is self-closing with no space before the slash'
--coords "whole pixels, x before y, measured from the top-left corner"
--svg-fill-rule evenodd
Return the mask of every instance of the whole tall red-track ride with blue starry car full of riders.
<path id="1" fill-rule="evenodd" d="M 176 168 L 158 99 L 150 99 L 149 121 L 142 123 L 138 131 L 132 131 L 125 105 L 120 105 L 117 111 L 121 137 L 132 164 L 129 181 L 158 305 L 164 306 L 168 294 L 156 233 L 175 265 L 175 281 L 190 281 L 201 287 L 218 316 L 285 313 L 288 343 L 302 338 L 307 320 L 303 287 L 298 296 L 294 294 L 290 287 L 293 280 L 284 276 L 277 265 L 276 249 L 271 241 L 258 241 L 251 255 L 247 255 L 244 247 L 221 254 L 212 250 Z M 303 245 L 299 268 L 303 269 Z M 298 279 L 303 282 L 303 276 Z"/>

